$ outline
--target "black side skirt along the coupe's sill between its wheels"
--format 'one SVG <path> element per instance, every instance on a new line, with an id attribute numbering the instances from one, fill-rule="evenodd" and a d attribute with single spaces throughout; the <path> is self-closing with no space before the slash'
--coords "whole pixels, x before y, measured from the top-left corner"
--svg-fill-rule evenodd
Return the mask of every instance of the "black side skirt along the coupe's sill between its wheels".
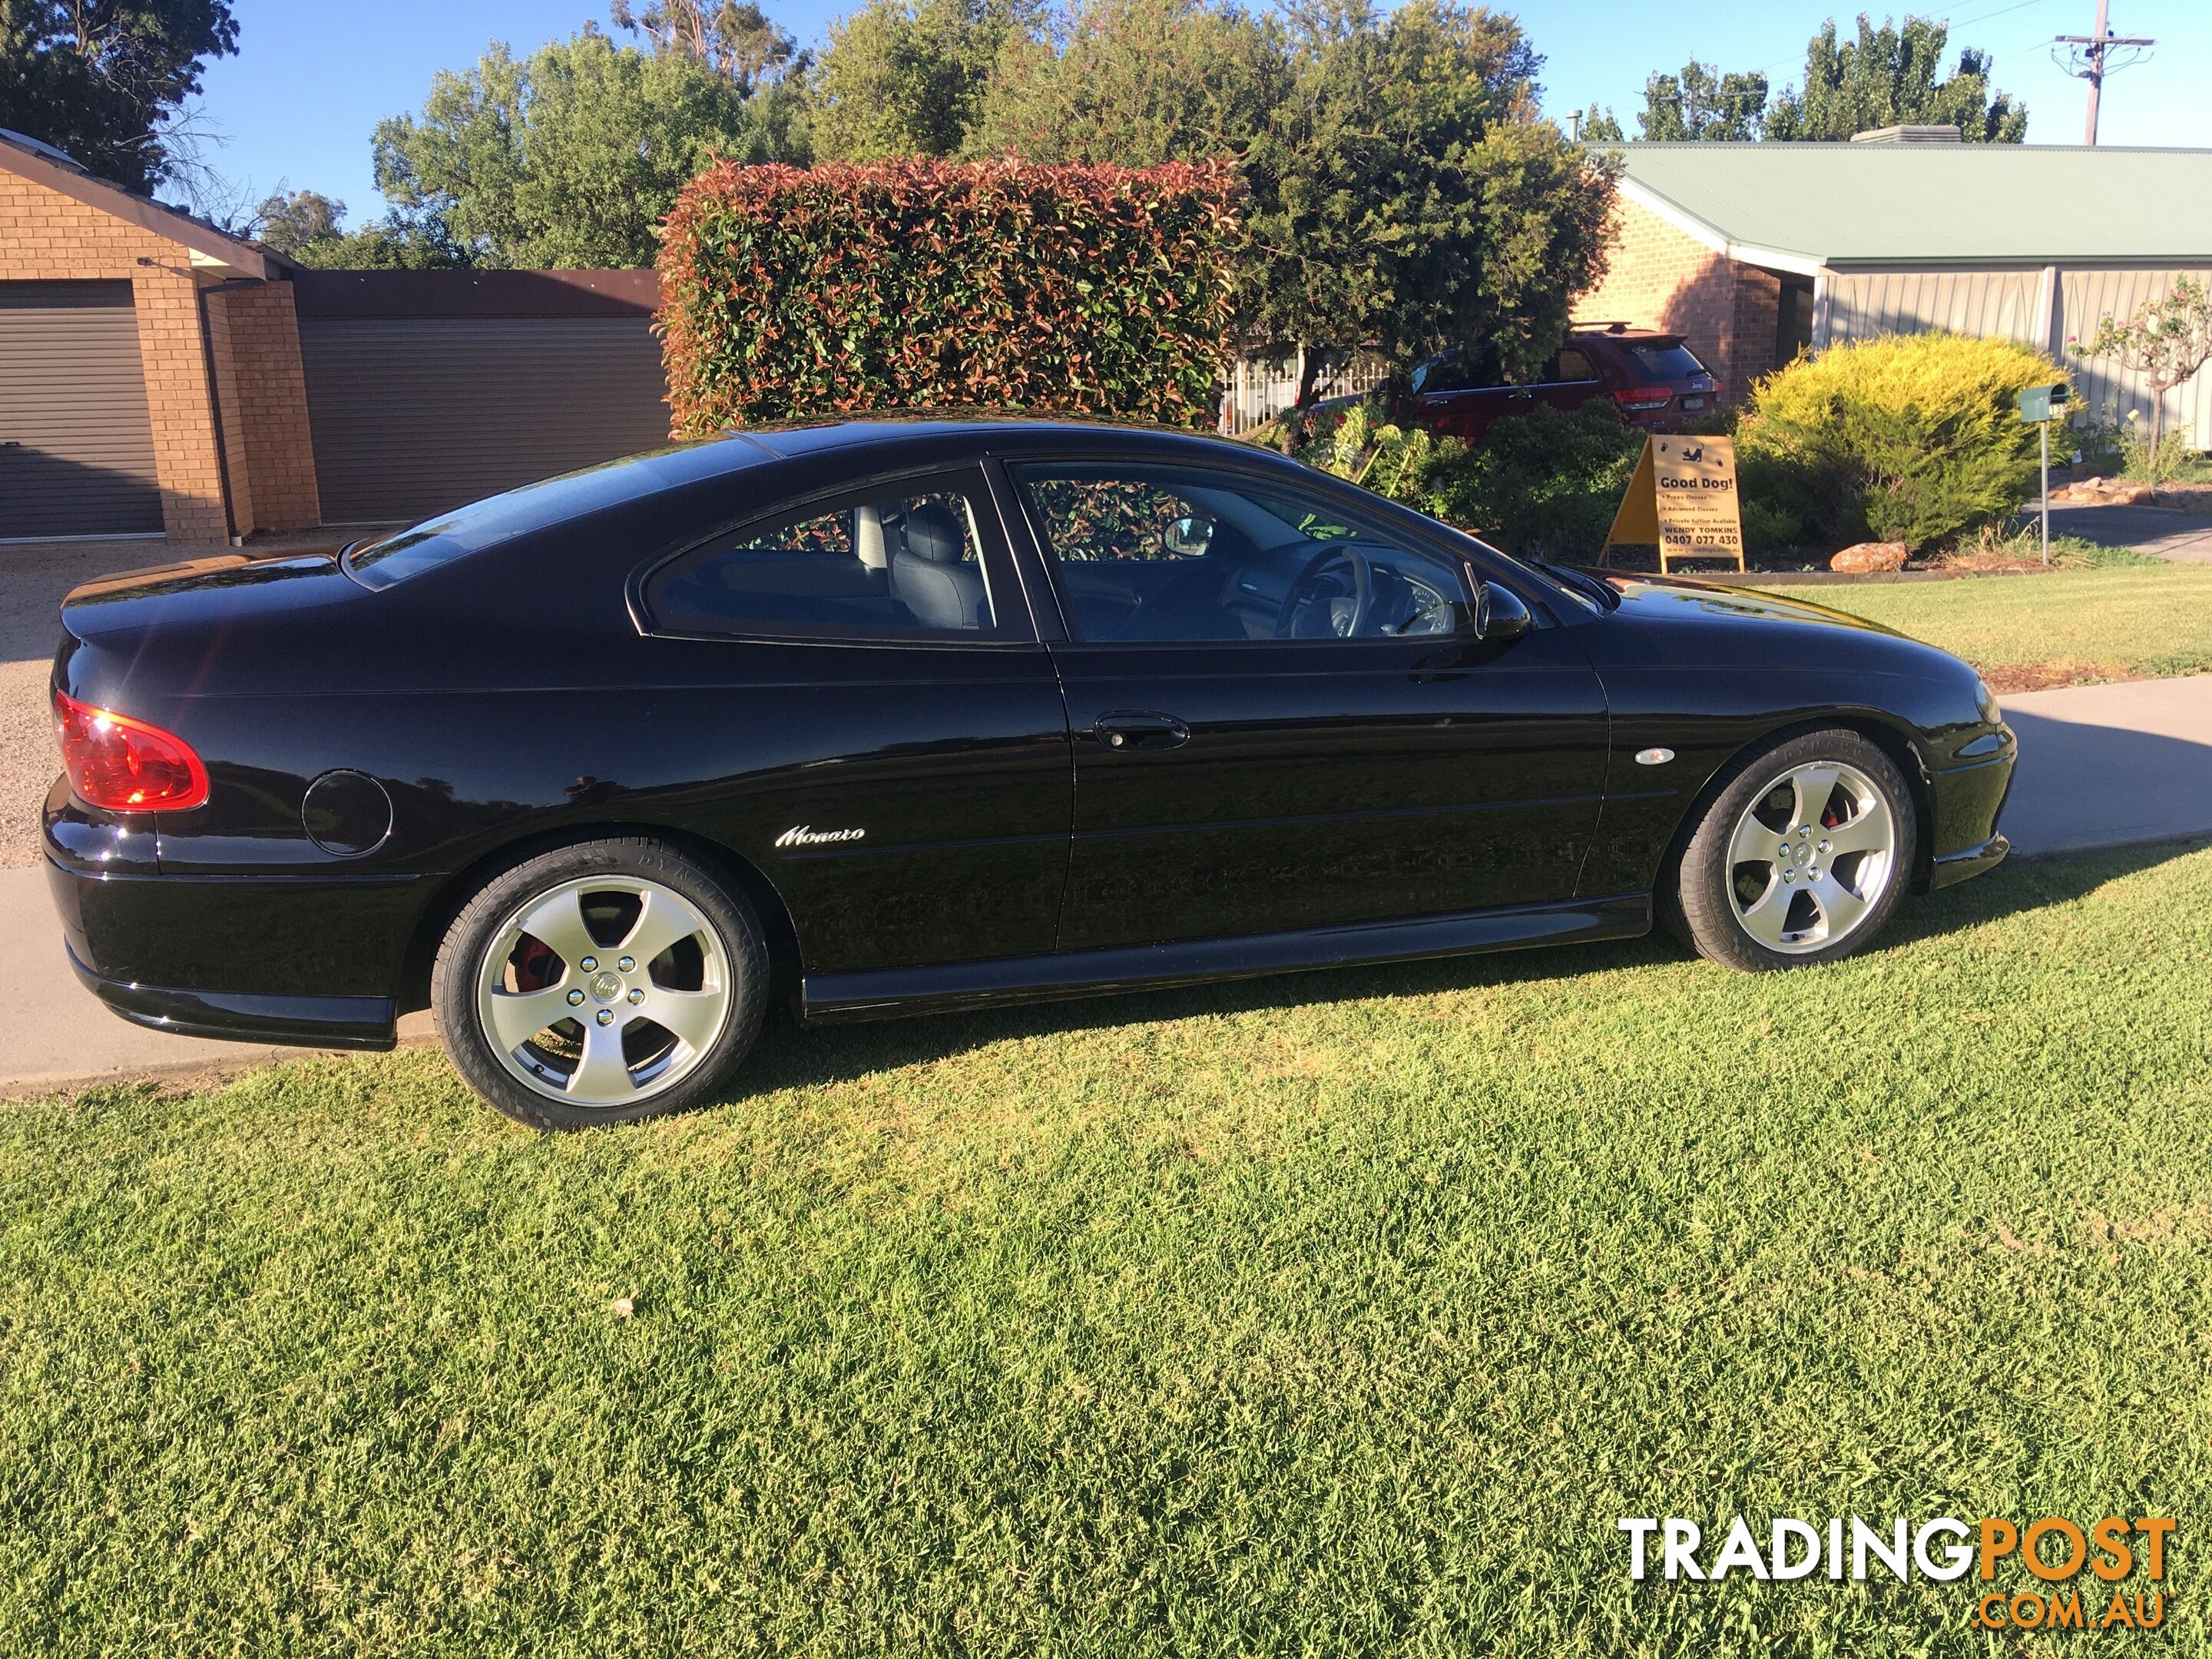
<path id="1" fill-rule="evenodd" d="M 916 969 L 810 973 L 801 982 L 801 1015 L 807 1024 L 832 1024 L 894 1013 L 947 1013 L 993 1002 L 1046 1002 L 1206 980 L 1248 980 L 1301 969 L 1416 962 L 1429 956 L 1469 956 L 1517 945 L 1637 938 L 1648 933 L 1650 925 L 1650 894 L 1615 894 L 1613 898 L 1577 898 L 1564 905 L 1411 916 L 1400 922 L 1307 927 L 1294 933 L 1124 945 Z"/>

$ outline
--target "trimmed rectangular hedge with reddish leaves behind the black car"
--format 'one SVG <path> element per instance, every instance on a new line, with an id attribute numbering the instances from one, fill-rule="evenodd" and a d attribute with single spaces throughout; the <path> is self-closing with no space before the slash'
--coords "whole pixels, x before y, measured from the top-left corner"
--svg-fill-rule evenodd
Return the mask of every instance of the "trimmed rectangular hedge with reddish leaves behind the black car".
<path id="1" fill-rule="evenodd" d="M 1206 425 L 1232 190 L 1228 166 L 721 161 L 661 230 L 675 427 L 947 407 Z"/>

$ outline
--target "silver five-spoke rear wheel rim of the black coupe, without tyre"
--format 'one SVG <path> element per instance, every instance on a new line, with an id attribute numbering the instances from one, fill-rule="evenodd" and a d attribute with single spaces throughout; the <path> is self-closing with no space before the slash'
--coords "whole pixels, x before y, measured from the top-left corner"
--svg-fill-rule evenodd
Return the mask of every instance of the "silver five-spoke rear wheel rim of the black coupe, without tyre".
<path id="1" fill-rule="evenodd" d="M 708 1055 L 732 982 L 728 949 L 688 898 L 644 876 L 584 876 L 500 922 L 476 1011 L 491 1053 L 535 1093 L 635 1106 Z"/>

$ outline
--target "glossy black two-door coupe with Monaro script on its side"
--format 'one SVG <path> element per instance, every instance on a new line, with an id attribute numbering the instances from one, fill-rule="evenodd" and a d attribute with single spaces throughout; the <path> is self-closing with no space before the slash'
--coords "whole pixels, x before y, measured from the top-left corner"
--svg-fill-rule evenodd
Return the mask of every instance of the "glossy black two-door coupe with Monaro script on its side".
<path id="1" fill-rule="evenodd" d="M 1964 664 L 1809 604 L 1509 560 L 1243 445 L 750 431 L 343 555 L 62 608 L 77 973 L 385 1048 L 540 1126 L 807 1020 L 1644 933 L 1867 945 L 1995 865 Z"/>

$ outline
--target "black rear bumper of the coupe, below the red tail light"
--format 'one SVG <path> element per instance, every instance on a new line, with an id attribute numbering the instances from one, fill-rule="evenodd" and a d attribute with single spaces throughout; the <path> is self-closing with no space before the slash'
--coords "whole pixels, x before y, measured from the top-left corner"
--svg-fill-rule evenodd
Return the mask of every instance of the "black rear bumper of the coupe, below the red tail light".
<path id="1" fill-rule="evenodd" d="M 49 854 L 46 889 L 71 969 L 133 1024 L 310 1048 L 398 1040 L 396 1000 L 374 991 L 396 978 L 396 900 L 411 883 L 192 880 L 73 869 Z M 301 933 L 314 942 L 283 945 Z"/>

